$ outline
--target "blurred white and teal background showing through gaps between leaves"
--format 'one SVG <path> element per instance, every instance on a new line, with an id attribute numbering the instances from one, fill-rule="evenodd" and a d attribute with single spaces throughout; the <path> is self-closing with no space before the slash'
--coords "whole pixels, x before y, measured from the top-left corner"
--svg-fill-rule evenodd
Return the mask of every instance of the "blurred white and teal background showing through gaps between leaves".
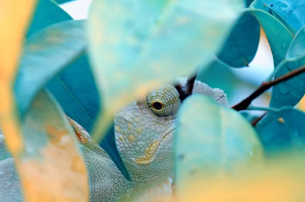
<path id="1" fill-rule="evenodd" d="M 74 19 L 86 19 L 92 0 L 76 0 L 60 5 Z M 257 53 L 248 67 L 229 68 L 227 65 L 214 65 L 200 75 L 201 81 L 213 88 L 221 88 L 228 96 L 230 106 L 251 94 L 273 70 L 270 47 L 261 29 Z M 228 81 L 230 85 L 227 85 Z M 253 105 L 268 106 L 270 90 L 257 98 Z M 251 112 L 261 114 L 262 112 Z"/>

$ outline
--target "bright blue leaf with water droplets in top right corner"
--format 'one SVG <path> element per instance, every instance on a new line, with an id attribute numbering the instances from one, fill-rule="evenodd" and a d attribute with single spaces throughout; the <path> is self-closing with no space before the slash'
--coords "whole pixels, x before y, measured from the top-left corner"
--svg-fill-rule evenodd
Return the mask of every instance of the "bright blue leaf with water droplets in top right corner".
<path id="1" fill-rule="evenodd" d="M 285 21 L 297 32 L 305 25 L 305 1 L 304 0 L 261 0 L 266 7 L 276 13 L 279 20 Z"/>

